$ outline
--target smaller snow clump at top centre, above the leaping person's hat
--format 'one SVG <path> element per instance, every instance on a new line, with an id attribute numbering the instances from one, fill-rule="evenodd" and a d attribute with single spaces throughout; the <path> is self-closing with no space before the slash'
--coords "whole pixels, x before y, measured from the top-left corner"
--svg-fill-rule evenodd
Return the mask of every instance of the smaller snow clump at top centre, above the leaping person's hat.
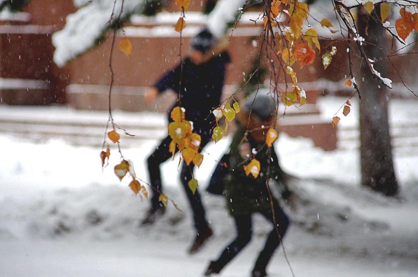
<path id="1" fill-rule="evenodd" d="M 245 0 L 218 1 L 208 17 L 207 27 L 210 32 L 216 37 L 223 36 L 230 24 L 233 24 L 236 21 L 239 16 L 237 11 L 241 11 L 244 4 Z"/>

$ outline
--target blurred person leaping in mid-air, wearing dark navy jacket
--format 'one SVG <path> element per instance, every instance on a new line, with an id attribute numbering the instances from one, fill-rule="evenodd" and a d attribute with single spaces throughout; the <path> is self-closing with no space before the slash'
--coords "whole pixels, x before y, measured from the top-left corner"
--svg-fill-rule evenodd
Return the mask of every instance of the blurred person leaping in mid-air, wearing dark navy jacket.
<path id="1" fill-rule="evenodd" d="M 145 96 L 146 102 L 150 103 L 168 89 L 177 93 L 178 100 L 170 109 L 168 120 L 172 121 L 170 113 L 174 107 L 180 105 L 184 108 L 186 120 L 193 122 L 193 132 L 201 136 L 200 149 L 211 140 L 211 131 L 216 126 L 212 111 L 220 105 L 226 66 L 230 63 L 226 46 L 227 43 L 217 40 L 207 29 L 203 29 L 191 39 L 191 52 L 183 61 L 183 69 L 182 65 L 178 64 L 161 77 Z M 150 182 L 159 191 L 163 190 L 160 164 L 172 157 L 168 149 L 170 142 L 171 137 L 167 135 L 148 157 Z M 180 174 L 181 183 L 193 211 L 196 229 L 196 238 L 188 250 L 189 253 L 198 251 L 213 234 L 206 219 L 199 192 L 196 191 L 193 194 L 188 186 L 189 180 L 192 179 L 193 168 L 193 164 L 187 166 L 183 162 Z M 143 219 L 142 225 L 152 224 L 164 214 L 165 206 L 158 198 L 159 193 L 152 191 L 151 208 Z"/>

